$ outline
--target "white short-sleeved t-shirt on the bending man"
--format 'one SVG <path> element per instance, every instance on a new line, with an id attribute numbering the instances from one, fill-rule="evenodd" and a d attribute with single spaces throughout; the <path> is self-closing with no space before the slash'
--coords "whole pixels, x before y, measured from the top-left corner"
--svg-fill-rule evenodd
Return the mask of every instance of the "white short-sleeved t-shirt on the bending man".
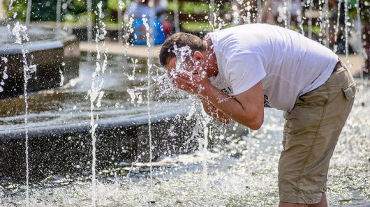
<path id="1" fill-rule="evenodd" d="M 322 85 L 338 56 L 298 32 L 245 24 L 209 33 L 218 64 L 211 84 L 229 95 L 262 80 L 265 107 L 291 111 L 297 97 Z"/>

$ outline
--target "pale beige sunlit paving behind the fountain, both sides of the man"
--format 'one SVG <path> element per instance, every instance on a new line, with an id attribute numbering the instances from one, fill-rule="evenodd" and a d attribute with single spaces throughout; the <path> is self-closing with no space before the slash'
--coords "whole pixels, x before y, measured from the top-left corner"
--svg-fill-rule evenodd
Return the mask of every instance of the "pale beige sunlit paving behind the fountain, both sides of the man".
<path id="1" fill-rule="evenodd" d="M 108 53 L 115 54 L 115 55 L 124 55 L 125 54 L 125 46 L 120 45 L 117 42 L 107 42 Z M 149 57 L 151 58 L 158 58 L 160 45 L 154 45 L 150 48 Z M 99 48 L 102 49 L 102 45 L 99 45 Z M 80 50 L 81 51 L 96 51 L 96 44 L 95 43 L 87 43 L 87 42 L 80 42 Z M 135 45 L 129 46 L 127 49 L 127 55 L 135 58 L 147 58 L 148 57 L 148 47 L 146 45 Z M 346 62 L 345 55 L 339 55 L 339 58 Z M 356 75 L 359 73 L 361 64 L 363 63 L 363 57 L 359 55 L 349 55 L 348 61 L 346 65 L 348 66 L 349 70 L 352 74 Z"/>

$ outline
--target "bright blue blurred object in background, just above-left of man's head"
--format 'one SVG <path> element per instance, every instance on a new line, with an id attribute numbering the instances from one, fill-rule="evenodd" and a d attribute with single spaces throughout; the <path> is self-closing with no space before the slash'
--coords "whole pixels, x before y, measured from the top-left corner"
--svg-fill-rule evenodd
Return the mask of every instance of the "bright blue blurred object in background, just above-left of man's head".
<path id="1" fill-rule="evenodd" d="M 150 25 L 150 20 L 148 20 L 149 27 L 153 27 Z M 134 24 L 132 25 L 134 32 L 132 33 L 132 40 L 134 45 L 146 45 L 147 44 L 147 37 L 145 30 L 144 22 L 141 19 L 135 20 Z M 158 19 L 154 20 L 154 28 L 153 35 L 154 36 L 154 44 L 160 45 L 163 44 L 165 41 L 165 33 L 164 29 L 162 28 L 162 24 Z"/>

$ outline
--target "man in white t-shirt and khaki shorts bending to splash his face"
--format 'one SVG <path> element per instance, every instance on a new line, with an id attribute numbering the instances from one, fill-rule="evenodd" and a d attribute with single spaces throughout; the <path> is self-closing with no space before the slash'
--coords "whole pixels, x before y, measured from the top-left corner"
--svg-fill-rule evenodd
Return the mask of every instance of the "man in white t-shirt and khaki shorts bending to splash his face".
<path id="1" fill-rule="evenodd" d="M 185 70 L 176 71 L 176 48 L 184 46 L 191 55 L 181 63 Z M 336 54 L 295 31 L 247 24 L 203 40 L 174 34 L 159 59 L 172 83 L 198 96 L 222 123 L 232 119 L 257 130 L 264 107 L 285 111 L 279 206 L 327 206 L 329 161 L 356 94 Z"/>

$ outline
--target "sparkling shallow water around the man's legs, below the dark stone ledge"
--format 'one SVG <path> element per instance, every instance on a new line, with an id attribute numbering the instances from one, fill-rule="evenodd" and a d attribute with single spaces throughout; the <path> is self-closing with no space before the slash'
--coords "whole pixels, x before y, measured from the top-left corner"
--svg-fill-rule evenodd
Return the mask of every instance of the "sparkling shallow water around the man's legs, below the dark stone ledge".
<path id="1" fill-rule="evenodd" d="M 334 151 L 328 180 L 329 206 L 370 205 L 370 90 L 362 88 Z M 277 206 L 277 162 L 282 149 L 282 112 L 266 109 L 258 131 L 215 145 L 208 152 L 206 188 L 202 156 L 161 156 L 149 164 L 101 170 L 97 206 Z M 129 176 L 128 176 L 129 175 Z M 90 178 L 48 176 L 30 186 L 31 206 L 90 206 Z M 152 196 L 151 196 L 152 193 Z M 25 186 L 4 183 L 0 204 L 24 206 Z"/>

